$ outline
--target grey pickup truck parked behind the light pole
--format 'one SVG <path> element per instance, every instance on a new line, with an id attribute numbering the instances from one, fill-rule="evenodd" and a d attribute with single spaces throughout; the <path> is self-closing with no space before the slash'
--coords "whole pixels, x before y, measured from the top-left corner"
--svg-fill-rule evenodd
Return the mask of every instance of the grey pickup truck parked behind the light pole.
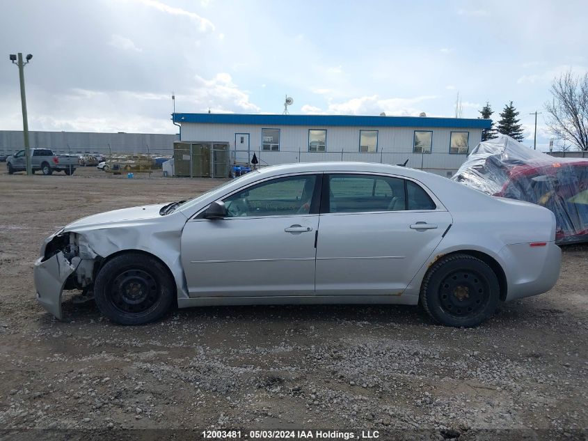
<path id="1" fill-rule="evenodd" d="M 50 175 L 54 171 L 63 171 L 66 175 L 72 175 L 78 167 L 79 157 L 74 155 L 54 155 L 50 148 L 31 148 L 31 165 L 33 173 L 40 170 L 44 175 Z M 6 160 L 8 174 L 15 171 L 26 170 L 26 157 L 24 150 L 15 155 L 10 155 Z"/>

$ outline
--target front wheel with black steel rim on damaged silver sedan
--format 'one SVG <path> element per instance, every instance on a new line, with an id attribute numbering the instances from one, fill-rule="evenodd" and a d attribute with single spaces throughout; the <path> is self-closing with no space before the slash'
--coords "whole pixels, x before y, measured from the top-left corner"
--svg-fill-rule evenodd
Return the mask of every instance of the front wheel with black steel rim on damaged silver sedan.
<path id="1" fill-rule="evenodd" d="M 94 284 L 100 312 L 121 325 L 143 325 L 164 316 L 176 295 L 168 268 L 157 258 L 121 254 L 102 267 Z"/>

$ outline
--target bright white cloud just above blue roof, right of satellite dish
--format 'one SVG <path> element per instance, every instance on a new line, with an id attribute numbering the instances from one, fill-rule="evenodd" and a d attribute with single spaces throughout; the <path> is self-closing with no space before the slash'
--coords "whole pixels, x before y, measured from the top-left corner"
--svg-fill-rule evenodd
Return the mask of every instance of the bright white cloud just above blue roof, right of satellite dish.
<path id="1" fill-rule="evenodd" d="M 386 115 L 393 116 L 418 116 L 424 109 L 416 107 L 422 102 L 434 100 L 434 95 L 423 95 L 415 98 L 380 98 L 378 95 L 351 98 L 343 102 L 330 102 L 327 109 L 311 105 L 303 105 L 301 111 L 304 114 L 331 114 L 331 115 Z"/>

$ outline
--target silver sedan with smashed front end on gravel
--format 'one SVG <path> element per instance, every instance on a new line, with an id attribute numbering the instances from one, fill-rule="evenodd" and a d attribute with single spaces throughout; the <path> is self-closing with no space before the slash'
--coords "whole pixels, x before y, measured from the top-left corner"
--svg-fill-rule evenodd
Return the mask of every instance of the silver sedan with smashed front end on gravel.
<path id="1" fill-rule="evenodd" d="M 405 167 L 267 167 L 188 201 L 84 217 L 45 240 L 39 302 L 93 292 L 136 325 L 180 308 L 235 304 L 422 304 L 475 326 L 500 302 L 559 276 L 555 216 Z"/>

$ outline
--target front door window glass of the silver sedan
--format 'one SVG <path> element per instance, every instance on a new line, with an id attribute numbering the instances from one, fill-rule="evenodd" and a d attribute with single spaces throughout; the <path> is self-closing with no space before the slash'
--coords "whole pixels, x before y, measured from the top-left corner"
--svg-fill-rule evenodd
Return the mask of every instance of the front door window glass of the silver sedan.
<path id="1" fill-rule="evenodd" d="M 253 185 L 223 199 L 228 217 L 308 215 L 316 175 L 289 176 Z"/>

